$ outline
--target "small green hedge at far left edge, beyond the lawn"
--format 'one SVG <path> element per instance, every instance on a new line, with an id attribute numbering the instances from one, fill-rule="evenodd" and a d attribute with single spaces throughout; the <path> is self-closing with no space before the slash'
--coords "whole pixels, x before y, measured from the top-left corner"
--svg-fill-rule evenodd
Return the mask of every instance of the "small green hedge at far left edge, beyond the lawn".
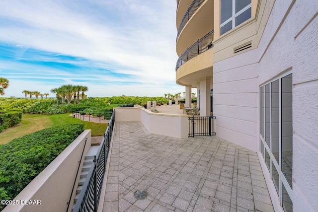
<path id="1" fill-rule="evenodd" d="M 19 124 L 21 122 L 21 119 L 21 111 L 0 111 L 0 132 L 6 128 Z"/>

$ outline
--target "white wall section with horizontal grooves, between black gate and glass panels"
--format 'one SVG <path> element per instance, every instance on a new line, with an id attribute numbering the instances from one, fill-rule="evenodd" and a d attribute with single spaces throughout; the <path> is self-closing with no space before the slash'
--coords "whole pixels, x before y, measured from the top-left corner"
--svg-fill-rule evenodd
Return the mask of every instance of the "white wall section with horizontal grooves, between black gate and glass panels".
<path id="1" fill-rule="evenodd" d="M 258 149 L 258 85 L 255 51 L 214 64 L 213 115 L 216 133 L 252 151 Z"/>

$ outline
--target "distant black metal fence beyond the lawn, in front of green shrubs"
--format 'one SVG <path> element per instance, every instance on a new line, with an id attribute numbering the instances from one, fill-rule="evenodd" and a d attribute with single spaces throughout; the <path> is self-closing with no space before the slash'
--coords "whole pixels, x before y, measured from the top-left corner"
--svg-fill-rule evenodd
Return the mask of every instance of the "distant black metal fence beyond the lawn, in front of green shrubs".
<path id="1" fill-rule="evenodd" d="M 78 118 L 81 120 L 90 121 L 91 119 L 97 119 L 99 120 L 99 123 L 102 119 L 110 119 L 112 116 L 111 110 L 81 110 L 81 111 L 72 111 L 73 112 L 73 118 Z"/>

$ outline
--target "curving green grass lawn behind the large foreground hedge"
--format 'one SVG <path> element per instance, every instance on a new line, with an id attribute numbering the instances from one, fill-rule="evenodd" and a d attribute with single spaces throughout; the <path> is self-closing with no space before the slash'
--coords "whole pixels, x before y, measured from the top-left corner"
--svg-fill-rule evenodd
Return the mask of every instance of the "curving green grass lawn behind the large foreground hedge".
<path id="1" fill-rule="evenodd" d="M 23 114 L 22 123 L 0 133 L 0 144 L 20 138 L 30 133 L 64 124 L 83 123 L 85 130 L 91 129 L 92 136 L 103 136 L 107 125 L 104 123 L 85 122 L 69 116 L 70 113 L 57 115 Z"/>

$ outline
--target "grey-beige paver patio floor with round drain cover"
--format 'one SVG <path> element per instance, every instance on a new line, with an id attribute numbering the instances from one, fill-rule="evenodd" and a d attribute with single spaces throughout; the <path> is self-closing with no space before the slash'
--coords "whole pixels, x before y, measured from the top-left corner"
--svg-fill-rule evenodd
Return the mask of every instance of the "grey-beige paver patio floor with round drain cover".
<path id="1" fill-rule="evenodd" d="M 255 152 L 218 137 L 150 134 L 140 122 L 116 123 L 105 191 L 103 212 L 274 211 Z"/>

